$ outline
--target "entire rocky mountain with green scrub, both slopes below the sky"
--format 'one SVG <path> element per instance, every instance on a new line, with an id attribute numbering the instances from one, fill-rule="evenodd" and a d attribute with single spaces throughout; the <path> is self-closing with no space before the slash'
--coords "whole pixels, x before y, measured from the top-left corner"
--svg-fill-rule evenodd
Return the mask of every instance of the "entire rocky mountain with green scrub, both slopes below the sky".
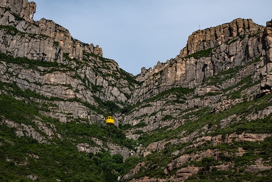
<path id="1" fill-rule="evenodd" d="M 195 31 L 133 76 L 35 12 L 0 2 L 1 181 L 272 180 L 272 21 Z"/>

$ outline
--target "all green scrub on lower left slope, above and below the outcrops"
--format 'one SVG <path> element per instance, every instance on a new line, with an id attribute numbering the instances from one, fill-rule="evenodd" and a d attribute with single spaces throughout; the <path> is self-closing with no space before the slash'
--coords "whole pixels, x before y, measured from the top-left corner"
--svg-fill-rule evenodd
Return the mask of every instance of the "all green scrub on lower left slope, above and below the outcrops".
<path id="1" fill-rule="evenodd" d="M 15 90 L 7 91 L 24 96 L 25 99 L 37 96 L 35 92 L 16 89 L 16 86 L 9 83 L 1 82 L 1 84 L 1 89 L 8 85 L 12 86 Z M 127 139 L 123 130 L 115 126 L 90 125 L 78 123 L 77 120 L 60 123 L 56 119 L 41 115 L 39 111 L 43 107 L 45 106 L 40 103 L 30 100 L 25 103 L 24 100 L 16 100 L 8 95 L 0 94 L 0 122 L 8 119 L 17 124 L 31 126 L 50 142 L 48 144 L 38 143 L 35 139 L 26 136 L 19 138 L 14 134 L 16 128 L 0 124 L 0 181 L 18 179 L 31 181 L 26 177 L 29 174 L 38 176 L 36 181 L 55 181 L 56 179 L 62 181 L 117 181 L 117 177 L 128 172 L 138 160 L 137 157 L 132 157 L 123 163 L 123 157 L 120 154 L 111 157 L 107 152 L 93 155 L 77 151 L 78 143 L 95 146 L 91 137 L 102 140 L 104 145 L 106 142 L 111 142 L 133 150 L 135 148 L 132 145 L 134 142 Z M 62 136 L 63 140 L 56 135 L 49 139 L 33 122 L 37 118 L 47 124 L 54 124 L 57 133 Z M 39 158 L 35 159 L 32 155 Z"/>

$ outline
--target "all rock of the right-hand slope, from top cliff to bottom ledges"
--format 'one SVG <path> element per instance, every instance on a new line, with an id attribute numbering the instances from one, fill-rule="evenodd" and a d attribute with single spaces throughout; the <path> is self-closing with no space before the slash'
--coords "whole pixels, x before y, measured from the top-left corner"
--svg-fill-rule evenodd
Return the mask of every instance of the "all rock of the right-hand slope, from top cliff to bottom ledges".
<path id="1" fill-rule="evenodd" d="M 245 22 L 248 22 L 248 26 L 241 28 L 241 22 L 244 22 L 244 26 L 246 25 Z M 167 179 L 142 177 L 132 179 L 131 182 L 184 181 L 189 176 L 203 170 L 199 166 L 190 165 L 193 161 L 201 161 L 205 157 L 220 160 L 222 155 L 228 155 L 227 152 L 222 153 L 218 149 L 204 149 L 191 154 L 184 152 L 187 148 L 203 147 L 205 142 L 217 146 L 223 143 L 232 143 L 233 141 L 263 141 L 271 137 L 271 134 L 267 133 L 245 132 L 240 134 L 227 133 L 226 136 L 209 135 L 209 132 L 213 132 L 216 127 L 224 130 L 225 128 L 230 129 L 234 123 L 242 124 L 244 122 L 254 122 L 258 119 L 271 119 L 272 22 L 268 21 L 266 27 L 253 25 L 250 22 L 252 21 L 236 19 L 227 24 L 230 26 L 223 32 L 227 32 L 227 30 L 235 31 L 222 34 L 220 39 L 209 39 L 208 44 L 213 44 L 214 47 L 211 47 L 212 49 L 209 46 L 204 48 L 205 51 L 210 49 L 208 55 L 205 55 L 204 51 L 201 52 L 201 50 L 204 50 L 202 48 L 207 39 L 203 42 L 198 41 L 196 37 L 202 35 L 197 36 L 197 33 L 194 32 L 191 39 L 189 36 L 188 49 L 181 50 L 181 55 L 167 60 L 166 63 L 158 62 L 153 69 L 142 68 L 137 79 L 143 81 L 143 85 L 134 92 L 134 97 L 131 99 L 132 103 L 141 103 L 138 103 L 137 107 L 126 114 L 122 121 L 134 126 L 127 131 L 127 137 L 137 140 L 139 137 L 149 137 L 152 134 L 158 136 L 156 133 L 163 130 L 164 127 L 169 127 L 163 130 L 166 133 L 174 130 L 179 132 L 172 139 L 154 139 L 148 145 L 139 145 L 136 155 L 146 157 L 152 155 L 152 153 L 161 154 L 162 151 L 167 151 L 166 144 L 178 146 L 190 143 L 190 145 L 171 153 L 173 160 L 162 168 L 164 173 L 169 175 Z M 220 27 L 224 26 L 218 26 L 219 30 L 224 30 L 224 28 L 220 29 Z M 205 31 L 207 32 L 207 30 Z M 227 37 L 227 39 L 223 40 L 222 37 Z M 190 51 L 186 52 L 185 50 Z M 196 54 L 193 54 L 195 53 L 194 50 L 197 51 Z M 187 54 L 188 52 L 193 53 Z M 178 89 L 176 87 L 184 88 Z M 169 88 L 172 89 L 168 90 Z M 188 90 L 189 88 L 194 89 L 192 91 Z M 187 93 L 183 89 L 191 92 Z M 268 98 L 268 104 L 265 107 L 256 109 L 256 112 L 250 111 L 247 114 L 240 113 L 224 116 L 224 119 L 218 120 L 218 125 L 211 126 L 208 123 L 205 126 L 198 127 L 198 129 L 194 128 L 194 132 L 188 133 L 188 130 L 192 128 L 186 127 L 186 124 L 192 122 L 199 125 L 204 119 L 203 115 L 205 115 L 205 109 L 207 108 L 210 108 L 208 111 L 210 113 L 209 117 L 213 117 L 214 114 L 219 116 L 221 113 L 226 113 L 224 112 L 226 110 L 233 110 L 231 109 L 233 107 L 240 109 L 237 105 L 242 107 L 247 102 L 252 103 L 252 105 L 246 107 L 246 109 L 250 110 L 250 107 L 255 104 L 258 107 L 259 103 L 256 103 L 256 98 L 262 97 Z M 195 114 L 197 112 L 198 114 Z M 213 122 L 212 120 L 209 120 L 209 122 Z M 232 155 L 243 156 L 246 152 L 243 148 L 238 148 Z M 145 162 L 149 163 L 151 161 L 146 160 Z M 189 163 L 189 165 L 186 166 L 186 163 Z M 245 171 L 254 173 L 258 170 L 271 169 L 271 166 L 264 165 L 261 158 L 254 161 L 254 163 L 254 165 L 246 166 Z M 182 167 L 183 165 L 186 167 Z M 149 170 L 148 165 L 139 163 L 123 178 L 128 179 L 134 175 L 139 175 L 140 166 L 147 166 L 146 170 Z M 222 171 L 230 170 L 233 169 L 234 163 L 224 163 L 213 167 Z"/>

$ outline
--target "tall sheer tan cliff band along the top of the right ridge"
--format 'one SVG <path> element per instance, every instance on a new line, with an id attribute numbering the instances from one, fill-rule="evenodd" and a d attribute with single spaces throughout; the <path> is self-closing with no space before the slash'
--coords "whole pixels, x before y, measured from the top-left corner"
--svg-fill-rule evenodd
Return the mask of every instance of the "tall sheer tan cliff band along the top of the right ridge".
<path id="1" fill-rule="evenodd" d="M 264 27 L 251 19 L 235 19 L 195 31 L 175 58 L 159 62 L 153 69 L 142 68 L 137 79 L 144 83 L 130 102 L 142 102 L 173 87 L 195 88 L 208 77 L 247 64 L 260 55 L 271 60 L 270 37 L 269 23 Z"/>

